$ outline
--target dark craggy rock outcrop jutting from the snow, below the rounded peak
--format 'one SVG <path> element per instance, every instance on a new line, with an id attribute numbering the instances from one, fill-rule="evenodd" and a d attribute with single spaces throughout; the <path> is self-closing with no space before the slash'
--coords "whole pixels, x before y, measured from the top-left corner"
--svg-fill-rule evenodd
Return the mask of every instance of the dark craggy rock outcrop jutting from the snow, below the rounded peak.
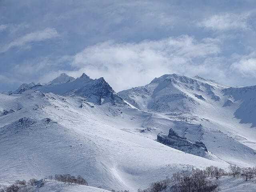
<path id="1" fill-rule="evenodd" d="M 157 135 L 157 141 L 172 148 L 197 156 L 205 157 L 208 152 L 204 143 L 192 143 L 188 141 L 186 137 L 179 136 L 174 130 L 172 130 L 172 128 L 170 128 L 168 135 L 162 132 L 159 133 Z"/>

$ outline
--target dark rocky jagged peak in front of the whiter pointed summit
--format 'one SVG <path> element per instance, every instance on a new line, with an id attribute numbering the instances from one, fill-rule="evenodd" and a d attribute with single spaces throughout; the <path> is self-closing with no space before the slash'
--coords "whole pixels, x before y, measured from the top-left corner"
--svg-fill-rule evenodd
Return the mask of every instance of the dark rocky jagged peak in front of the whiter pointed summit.
<path id="1" fill-rule="evenodd" d="M 93 80 L 85 73 L 74 81 L 48 84 L 34 89 L 63 96 L 81 96 L 84 97 L 86 101 L 94 104 L 104 104 L 107 102 L 112 104 L 126 104 L 103 77 Z"/>

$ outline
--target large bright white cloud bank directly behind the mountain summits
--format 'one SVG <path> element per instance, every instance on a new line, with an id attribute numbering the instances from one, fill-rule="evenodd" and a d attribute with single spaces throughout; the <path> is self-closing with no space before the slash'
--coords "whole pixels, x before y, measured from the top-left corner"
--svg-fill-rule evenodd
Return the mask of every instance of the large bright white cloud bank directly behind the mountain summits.
<path id="1" fill-rule="evenodd" d="M 138 43 L 107 41 L 76 54 L 71 64 L 76 70 L 69 74 L 76 77 L 85 71 L 92 78 L 104 76 L 115 90 L 122 90 L 168 73 L 209 73 L 204 60 L 219 52 L 218 40 L 198 41 L 187 35 Z"/>

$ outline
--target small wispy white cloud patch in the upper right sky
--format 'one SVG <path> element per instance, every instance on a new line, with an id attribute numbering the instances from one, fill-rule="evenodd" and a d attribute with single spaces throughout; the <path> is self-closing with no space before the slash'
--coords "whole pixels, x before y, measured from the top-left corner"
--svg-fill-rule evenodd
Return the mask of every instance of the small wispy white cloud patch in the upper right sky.
<path id="1" fill-rule="evenodd" d="M 247 30 L 250 28 L 248 24 L 248 18 L 250 14 L 233 14 L 233 13 L 224 13 L 224 14 L 215 14 L 208 18 L 205 18 L 198 23 L 198 26 L 208 28 L 210 30 Z"/>

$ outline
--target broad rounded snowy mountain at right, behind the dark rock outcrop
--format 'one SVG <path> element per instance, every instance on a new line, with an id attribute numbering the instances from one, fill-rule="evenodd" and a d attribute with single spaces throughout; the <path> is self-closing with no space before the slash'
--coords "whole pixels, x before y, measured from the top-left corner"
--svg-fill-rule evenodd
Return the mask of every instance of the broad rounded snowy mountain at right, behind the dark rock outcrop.
<path id="1" fill-rule="evenodd" d="M 254 86 L 228 88 L 198 76 L 166 74 L 118 94 L 140 110 L 174 120 L 170 128 L 190 142 L 203 142 L 218 158 L 255 164 L 256 130 L 251 128 L 256 119 Z M 154 129 L 148 130 L 155 135 L 162 131 Z"/>

